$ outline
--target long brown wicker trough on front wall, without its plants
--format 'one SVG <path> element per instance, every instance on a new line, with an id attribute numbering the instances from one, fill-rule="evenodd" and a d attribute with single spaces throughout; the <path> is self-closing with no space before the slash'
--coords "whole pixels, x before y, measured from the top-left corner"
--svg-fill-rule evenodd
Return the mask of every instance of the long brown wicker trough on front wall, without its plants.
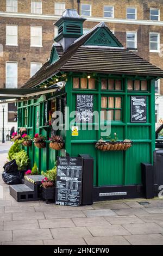
<path id="1" fill-rule="evenodd" d="M 101 151 L 125 151 L 131 147 L 131 142 L 97 142 L 95 148 Z"/>

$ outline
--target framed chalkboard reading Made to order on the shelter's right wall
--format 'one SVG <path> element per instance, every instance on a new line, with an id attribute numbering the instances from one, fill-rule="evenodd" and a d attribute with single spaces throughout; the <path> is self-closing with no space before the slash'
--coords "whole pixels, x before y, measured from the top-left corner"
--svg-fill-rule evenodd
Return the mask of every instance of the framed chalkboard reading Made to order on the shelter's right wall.
<path id="1" fill-rule="evenodd" d="M 131 96 L 131 123 L 147 122 L 146 96 Z"/>

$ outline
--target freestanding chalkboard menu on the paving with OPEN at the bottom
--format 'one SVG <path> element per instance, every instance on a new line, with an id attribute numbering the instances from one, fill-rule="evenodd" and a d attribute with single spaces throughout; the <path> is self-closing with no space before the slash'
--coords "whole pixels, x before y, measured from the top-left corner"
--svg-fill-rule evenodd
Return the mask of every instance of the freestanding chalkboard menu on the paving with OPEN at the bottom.
<path id="1" fill-rule="evenodd" d="M 55 204 L 79 206 L 82 202 L 82 157 L 58 156 Z"/>

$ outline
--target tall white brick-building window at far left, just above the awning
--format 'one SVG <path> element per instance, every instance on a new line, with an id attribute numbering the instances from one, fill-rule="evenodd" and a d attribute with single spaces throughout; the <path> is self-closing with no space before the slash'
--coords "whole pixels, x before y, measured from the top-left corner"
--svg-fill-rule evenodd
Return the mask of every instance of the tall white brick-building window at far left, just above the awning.
<path id="1" fill-rule="evenodd" d="M 17 88 L 17 62 L 6 63 L 6 88 Z"/>

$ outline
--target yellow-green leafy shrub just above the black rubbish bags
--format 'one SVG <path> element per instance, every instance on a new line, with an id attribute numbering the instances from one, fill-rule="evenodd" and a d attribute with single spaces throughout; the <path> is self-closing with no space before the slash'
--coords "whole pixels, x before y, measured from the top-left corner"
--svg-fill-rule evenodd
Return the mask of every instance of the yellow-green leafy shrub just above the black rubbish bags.
<path id="1" fill-rule="evenodd" d="M 15 159 L 18 170 L 25 170 L 29 163 L 29 157 L 25 150 L 21 150 L 18 153 L 12 155 L 12 159 Z"/>

